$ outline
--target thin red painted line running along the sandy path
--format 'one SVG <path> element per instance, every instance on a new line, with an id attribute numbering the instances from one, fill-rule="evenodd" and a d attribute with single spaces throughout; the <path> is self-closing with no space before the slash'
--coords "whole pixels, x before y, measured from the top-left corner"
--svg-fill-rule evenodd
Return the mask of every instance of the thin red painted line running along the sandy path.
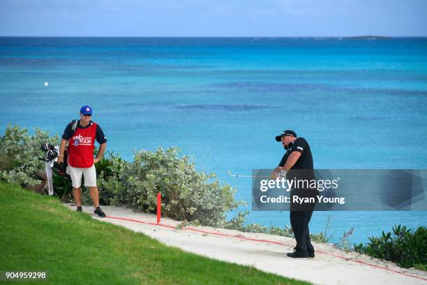
<path id="1" fill-rule="evenodd" d="M 152 226 L 163 226 L 165 228 L 175 228 L 174 226 L 168 226 L 168 225 L 165 225 L 165 224 L 156 224 L 156 223 L 151 223 L 149 221 L 140 221 L 140 220 L 136 220 L 136 219 L 128 219 L 128 218 L 113 217 L 113 216 L 107 216 L 107 218 L 110 218 L 110 219 L 120 219 L 120 220 L 123 220 L 123 221 L 134 221 L 134 222 L 140 223 L 140 224 L 148 224 L 148 225 L 152 225 Z M 259 240 L 259 239 L 256 239 L 256 238 L 247 238 L 247 237 L 244 237 L 243 235 L 227 235 L 226 233 L 218 233 L 218 232 L 198 230 L 197 228 L 183 228 L 183 230 L 195 231 L 197 233 L 208 233 L 209 235 L 220 235 L 220 236 L 227 237 L 227 238 L 239 238 L 241 240 L 252 240 L 254 242 L 266 242 L 266 243 L 269 243 L 269 244 L 278 244 L 278 245 L 284 245 L 284 246 L 292 247 L 292 244 L 285 243 L 285 242 L 274 242 L 272 240 Z M 394 273 L 398 273 L 400 275 L 405 275 L 405 276 L 408 276 L 408 277 L 414 277 L 414 278 L 417 278 L 417 279 L 421 279 L 421 280 L 426 280 L 427 281 L 427 279 L 423 278 L 423 277 L 419 277 L 419 276 L 415 276 L 415 275 L 410 275 L 408 273 L 401 272 L 401 271 L 394 270 L 394 269 L 390 269 L 390 268 L 384 268 L 384 266 L 379 266 L 379 265 L 375 265 L 375 264 L 366 263 L 365 261 L 360 261 L 359 259 L 349 259 L 349 258 L 346 258 L 345 256 L 340 256 L 338 254 L 330 254 L 329 252 L 321 251 L 321 250 L 317 250 L 316 252 L 318 252 L 320 254 L 327 254 L 329 256 L 334 256 L 336 258 L 341 258 L 341 259 L 343 259 L 345 261 L 352 261 L 354 263 L 360 263 L 360 264 L 363 264 L 363 265 L 371 266 L 373 268 L 387 270 L 389 272 L 394 272 Z"/>

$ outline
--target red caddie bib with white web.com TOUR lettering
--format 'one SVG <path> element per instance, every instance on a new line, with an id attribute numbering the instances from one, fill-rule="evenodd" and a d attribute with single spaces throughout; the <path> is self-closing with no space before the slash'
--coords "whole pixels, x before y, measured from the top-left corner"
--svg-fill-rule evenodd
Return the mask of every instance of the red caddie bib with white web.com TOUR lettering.
<path id="1" fill-rule="evenodd" d="M 96 123 L 80 129 L 68 140 L 68 165 L 78 168 L 89 168 L 93 165 L 93 146 L 96 139 Z"/>

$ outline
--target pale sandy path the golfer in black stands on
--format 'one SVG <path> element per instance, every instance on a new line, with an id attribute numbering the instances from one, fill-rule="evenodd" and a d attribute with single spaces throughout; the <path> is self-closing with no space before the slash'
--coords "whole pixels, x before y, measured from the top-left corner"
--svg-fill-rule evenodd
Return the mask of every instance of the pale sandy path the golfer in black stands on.
<path id="1" fill-rule="evenodd" d="M 70 204 L 67 206 L 75 210 Z M 314 244 L 316 257 L 313 259 L 288 258 L 285 253 L 292 251 L 295 244 L 291 238 L 202 226 L 188 226 L 184 230 L 177 230 L 167 227 L 179 224 L 172 219 L 163 218 L 161 224 L 165 226 L 158 226 L 156 216 L 153 214 L 137 213 L 114 206 L 104 206 L 103 210 L 110 217 L 135 219 L 146 224 L 121 219 L 94 218 L 144 233 L 164 244 L 185 251 L 220 261 L 253 265 L 259 270 L 306 280 L 313 284 L 427 284 L 427 272 L 398 268 L 394 263 L 377 261 L 354 252 L 346 254 L 345 251 L 335 249 L 329 244 Z M 93 213 L 93 207 L 83 207 L 83 211 Z M 244 239 L 239 235 L 255 240 Z"/>

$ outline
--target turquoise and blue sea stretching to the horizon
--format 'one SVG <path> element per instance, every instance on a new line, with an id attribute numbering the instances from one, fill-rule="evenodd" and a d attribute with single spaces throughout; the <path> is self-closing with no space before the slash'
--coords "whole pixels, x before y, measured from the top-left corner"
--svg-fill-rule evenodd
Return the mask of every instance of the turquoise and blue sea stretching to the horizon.
<path id="1" fill-rule="evenodd" d="M 227 171 L 274 168 L 284 129 L 308 140 L 315 168 L 426 169 L 427 38 L 0 38 L 0 129 L 61 134 L 85 104 L 107 149 L 181 147 L 248 202 L 250 180 Z M 310 229 L 329 217 L 333 241 L 427 225 L 427 212 L 315 212 Z"/>

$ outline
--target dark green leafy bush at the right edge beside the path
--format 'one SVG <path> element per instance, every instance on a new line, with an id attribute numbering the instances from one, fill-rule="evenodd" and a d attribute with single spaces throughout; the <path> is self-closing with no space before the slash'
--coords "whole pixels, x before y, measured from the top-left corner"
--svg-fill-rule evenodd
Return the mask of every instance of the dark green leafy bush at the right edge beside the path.
<path id="1" fill-rule="evenodd" d="M 354 250 L 375 258 L 394 261 L 403 268 L 427 265 L 427 227 L 413 231 L 406 226 L 394 226 L 393 234 L 382 232 L 379 238 L 369 237 L 368 244 L 354 244 Z"/>

